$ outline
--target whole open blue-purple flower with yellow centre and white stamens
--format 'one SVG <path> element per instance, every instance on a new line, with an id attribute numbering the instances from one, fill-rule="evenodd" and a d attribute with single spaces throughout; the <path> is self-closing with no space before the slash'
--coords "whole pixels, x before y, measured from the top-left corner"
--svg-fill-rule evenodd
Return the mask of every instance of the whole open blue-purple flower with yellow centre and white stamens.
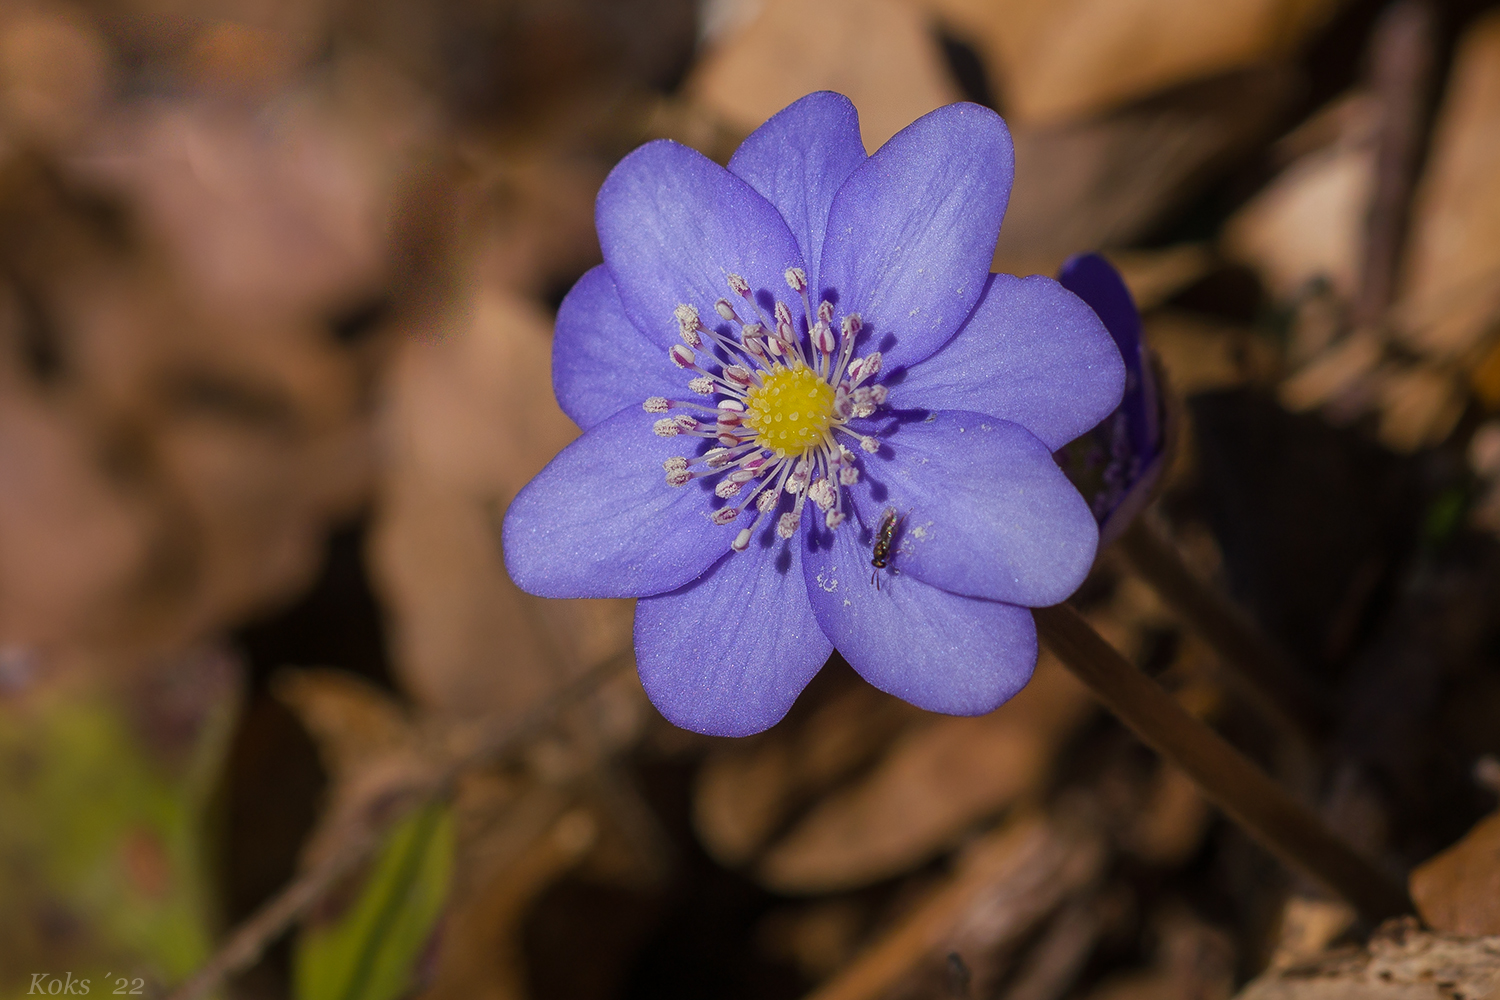
<path id="1" fill-rule="evenodd" d="M 766 729 L 836 646 L 938 712 L 1029 679 L 1026 609 L 1098 544 L 1053 451 L 1125 373 L 1058 282 L 990 274 L 1012 174 L 986 108 L 866 156 L 854 105 L 816 93 L 728 169 L 658 141 L 604 181 L 604 264 L 552 352 L 584 435 L 510 505 L 506 565 L 543 597 L 639 597 L 640 679 L 678 726 Z"/>

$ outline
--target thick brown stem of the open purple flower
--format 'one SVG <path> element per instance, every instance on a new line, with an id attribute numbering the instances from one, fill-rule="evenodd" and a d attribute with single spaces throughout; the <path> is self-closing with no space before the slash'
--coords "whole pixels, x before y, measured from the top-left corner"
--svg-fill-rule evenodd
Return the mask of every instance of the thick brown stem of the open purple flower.
<path id="1" fill-rule="evenodd" d="M 1056 604 L 1034 615 L 1042 640 L 1095 697 L 1270 853 L 1348 900 L 1371 922 L 1413 912 L 1404 886 L 1126 663 L 1078 612 Z"/>

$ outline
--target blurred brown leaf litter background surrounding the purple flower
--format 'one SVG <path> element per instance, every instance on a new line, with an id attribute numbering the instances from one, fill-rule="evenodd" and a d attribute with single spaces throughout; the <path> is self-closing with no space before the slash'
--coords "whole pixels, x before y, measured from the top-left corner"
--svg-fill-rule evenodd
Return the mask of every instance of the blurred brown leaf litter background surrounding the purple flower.
<path id="1" fill-rule="evenodd" d="M 1152 517 L 1320 711 L 1113 550 L 1095 627 L 1392 871 L 1496 808 L 1494 3 L 0 0 L 0 996 L 162 996 L 386 829 L 216 996 L 1216 999 L 1364 940 L 1050 657 L 957 720 L 836 655 L 700 738 L 630 603 L 506 577 L 600 181 L 820 88 L 870 150 L 1006 117 L 994 270 L 1122 270 Z M 1500 934 L 1480 834 L 1437 930 Z"/>

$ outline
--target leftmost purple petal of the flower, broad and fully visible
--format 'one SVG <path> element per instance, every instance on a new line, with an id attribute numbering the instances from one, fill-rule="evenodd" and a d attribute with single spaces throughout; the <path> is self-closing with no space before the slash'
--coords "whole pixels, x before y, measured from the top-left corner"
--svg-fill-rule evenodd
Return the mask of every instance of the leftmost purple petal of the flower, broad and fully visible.
<path id="1" fill-rule="evenodd" d="M 654 414 L 622 409 L 586 430 L 506 511 L 506 570 L 540 597 L 674 591 L 729 549 L 735 526 L 706 517 L 712 493 L 666 484 L 662 463 L 698 438 L 658 438 Z"/>

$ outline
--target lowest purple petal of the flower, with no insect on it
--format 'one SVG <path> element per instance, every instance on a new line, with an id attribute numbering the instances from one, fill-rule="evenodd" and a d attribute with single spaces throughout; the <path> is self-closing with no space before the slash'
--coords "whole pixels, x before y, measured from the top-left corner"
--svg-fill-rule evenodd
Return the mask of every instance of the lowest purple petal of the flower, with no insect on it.
<path id="1" fill-rule="evenodd" d="M 762 532 L 687 586 L 636 606 L 640 682 L 675 726 L 748 736 L 774 726 L 828 660 L 798 546 Z"/>

